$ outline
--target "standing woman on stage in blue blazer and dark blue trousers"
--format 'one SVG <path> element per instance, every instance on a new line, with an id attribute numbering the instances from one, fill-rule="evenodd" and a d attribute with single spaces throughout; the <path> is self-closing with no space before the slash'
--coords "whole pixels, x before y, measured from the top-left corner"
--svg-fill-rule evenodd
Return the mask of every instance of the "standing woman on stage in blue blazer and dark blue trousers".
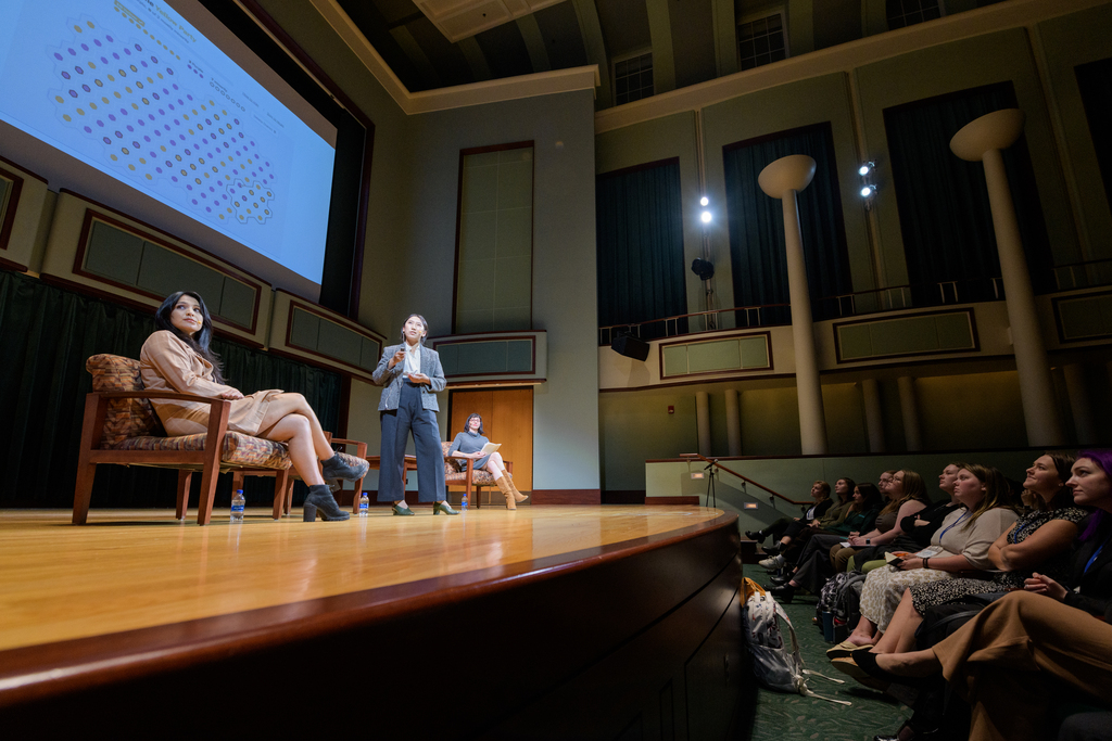
<path id="1" fill-rule="evenodd" d="M 383 351 L 373 378 L 385 385 L 378 402 L 383 422 L 383 457 L 378 475 L 378 501 L 394 502 L 394 513 L 414 513 L 406 504 L 405 455 L 409 433 L 417 447 L 417 495 L 433 502 L 433 514 L 459 514 L 445 499 L 444 449 L 436 413 L 440 405 L 436 392 L 447 381 L 440 356 L 425 347 L 428 322 L 420 314 L 409 314 L 401 326 L 401 344 Z"/>

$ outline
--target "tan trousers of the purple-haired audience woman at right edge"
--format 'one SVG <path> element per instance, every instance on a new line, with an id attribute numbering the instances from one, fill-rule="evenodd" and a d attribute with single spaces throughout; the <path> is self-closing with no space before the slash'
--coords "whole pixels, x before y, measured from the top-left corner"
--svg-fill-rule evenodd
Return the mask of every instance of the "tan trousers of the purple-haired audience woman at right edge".
<path id="1" fill-rule="evenodd" d="M 1055 683 L 1112 705 L 1112 625 L 1042 594 L 1012 592 L 933 650 L 970 702 L 970 741 L 1051 738 Z"/>

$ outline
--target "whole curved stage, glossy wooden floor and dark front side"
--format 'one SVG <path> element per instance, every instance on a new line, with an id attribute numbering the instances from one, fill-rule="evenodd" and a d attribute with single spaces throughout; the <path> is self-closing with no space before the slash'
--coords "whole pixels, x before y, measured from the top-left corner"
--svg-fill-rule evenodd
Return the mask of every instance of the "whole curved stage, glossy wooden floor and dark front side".
<path id="1" fill-rule="evenodd" d="M 0 718 L 36 734 L 172 719 L 163 737 L 724 738 L 736 722 L 734 515 L 415 511 L 206 528 L 0 511 Z"/>

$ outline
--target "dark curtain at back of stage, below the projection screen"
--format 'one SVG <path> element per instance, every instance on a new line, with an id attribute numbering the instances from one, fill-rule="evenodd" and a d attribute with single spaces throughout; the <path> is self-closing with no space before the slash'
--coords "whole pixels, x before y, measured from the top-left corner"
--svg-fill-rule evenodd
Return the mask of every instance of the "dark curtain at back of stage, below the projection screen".
<path id="1" fill-rule="evenodd" d="M 0 507 L 71 508 L 85 395 L 92 379 L 89 356 L 139 358 L 155 331 L 153 312 L 136 311 L 73 293 L 18 273 L 0 271 Z M 229 384 L 250 393 L 284 389 L 305 394 L 321 425 L 339 419 L 340 377 L 297 361 L 216 340 Z M 200 477 L 195 478 L 196 487 Z M 217 502 L 230 501 L 231 477 L 220 478 Z M 274 501 L 271 479 L 245 481 L 248 504 Z M 92 508 L 173 507 L 177 472 L 99 465 Z M 304 490 L 302 490 L 304 491 Z M 302 494 L 304 495 L 304 494 Z"/>

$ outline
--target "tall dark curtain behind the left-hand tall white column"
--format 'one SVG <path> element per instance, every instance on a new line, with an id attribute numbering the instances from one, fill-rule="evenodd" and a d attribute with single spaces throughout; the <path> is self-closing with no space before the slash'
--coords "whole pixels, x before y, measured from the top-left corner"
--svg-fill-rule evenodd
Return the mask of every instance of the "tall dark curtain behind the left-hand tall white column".
<path id="1" fill-rule="evenodd" d="M 800 231 L 807 268 L 811 312 L 815 320 L 826 319 L 836 316 L 831 311 L 836 310 L 837 302 L 822 299 L 853 290 L 830 123 L 723 148 L 734 304 L 752 307 L 790 302 L 783 204 L 778 199 L 765 196 L 757 184 L 762 170 L 788 154 L 807 154 L 815 160 L 814 180 L 797 194 L 796 200 L 800 204 Z M 737 319 L 738 326 L 745 326 L 744 317 Z M 787 307 L 761 312 L 764 326 L 786 324 L 791 320 Z"/>

